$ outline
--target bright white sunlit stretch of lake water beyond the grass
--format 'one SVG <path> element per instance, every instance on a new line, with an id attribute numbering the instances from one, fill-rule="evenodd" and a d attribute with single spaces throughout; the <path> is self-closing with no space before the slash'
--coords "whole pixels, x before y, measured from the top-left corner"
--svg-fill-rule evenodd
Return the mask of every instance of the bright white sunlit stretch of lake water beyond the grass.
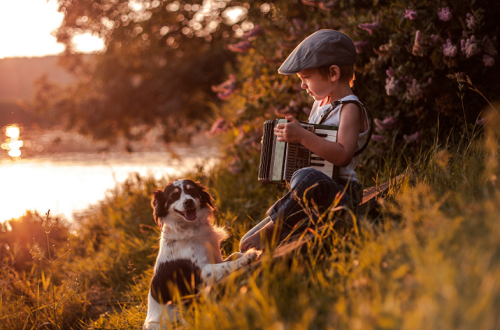
<path id="1" fill-rule="evenodd" d="M 12 161 L 0 160 L 0 221 L 22 216 L 26 210 L 44 214 L 84 210 L 105 197 L 106 191 L 125 181 L 130 173 L 141 176 L 180 176 L 216 161 L 216 148 L 176 148 L 181 159 L 166 152 L 68 153 Z M 196 155 L 196 156 L 193 156 Z"/>

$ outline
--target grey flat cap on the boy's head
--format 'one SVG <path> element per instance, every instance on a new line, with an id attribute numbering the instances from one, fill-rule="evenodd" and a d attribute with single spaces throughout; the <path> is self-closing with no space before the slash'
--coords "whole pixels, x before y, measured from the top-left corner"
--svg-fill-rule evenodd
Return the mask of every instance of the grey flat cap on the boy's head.
<path id="1" fill-rule="evenodd" d="M 295 74 L 325 65 L 356 63 L 356 47 L 342 32 L 319 30 L 304 39 L 279 67 L 281 74 Z"/>

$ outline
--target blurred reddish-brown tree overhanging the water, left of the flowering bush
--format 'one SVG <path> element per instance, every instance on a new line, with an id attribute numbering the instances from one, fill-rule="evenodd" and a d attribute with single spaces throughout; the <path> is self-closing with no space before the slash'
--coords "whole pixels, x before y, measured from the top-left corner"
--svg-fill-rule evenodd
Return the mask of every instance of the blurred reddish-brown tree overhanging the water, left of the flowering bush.
<path id="1" fill-rule="evenodd" d="M 37 111 L 95 139 L 136 139 L 157 126 L 166 141 L 189 138 L 210 120 L 218 101 L 210 86 L 234 59 L 224 47 L 232 37 L 226 5 L 60 0 L 64 20 L 55 35 L 78 81 L 60 87 L 41 79 Z M 102 54 L 74 52 L 72 38 L 85 32 L 104 39 Z"/>

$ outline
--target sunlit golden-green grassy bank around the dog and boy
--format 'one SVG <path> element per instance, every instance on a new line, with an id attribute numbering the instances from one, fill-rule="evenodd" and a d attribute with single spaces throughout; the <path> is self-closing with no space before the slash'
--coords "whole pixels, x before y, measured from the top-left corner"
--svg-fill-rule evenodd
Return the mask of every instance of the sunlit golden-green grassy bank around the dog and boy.
<path id="1" fill-rule="evenodd" d="M 492 115 L 472 142 L 436 141 L 379 215 L 355 219 L 355 227 L 329 224 L 335 230 L 318 233 L 305 254 L 281 261 L 264 254 L 262 264 L 187 306 L 187 324 L 498 329 L 499 124 Z M 379 182 L 403 171 L 394 164 L 381 169 Z M 254 171 L 242 173 L 222 166 L 191 175 L 216 197 L 217 222 L 231 234 L 225 254 L 282 194 L 258 184 Z M 1 328 L 139 329 L 158 249 L 150 193 L 170 179 L 130 178 L 76 227 L 32 213 L 3 224 Z"/>

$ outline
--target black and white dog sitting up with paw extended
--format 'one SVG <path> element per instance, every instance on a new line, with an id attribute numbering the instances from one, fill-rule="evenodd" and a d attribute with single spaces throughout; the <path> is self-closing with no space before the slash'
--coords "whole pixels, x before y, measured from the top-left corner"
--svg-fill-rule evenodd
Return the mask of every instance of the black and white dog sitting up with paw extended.
<path id="1" fill-rule="evenodd" d="M 256 257 L 250 251 L 222 260 L 220 243 L 228 235 L 213 225 L 213 198 L 200 184 L 174 181 L 164 190 L 155 191 L 151 204 L 161 239 L 148 294 L 144 322 L 148 330 L 175 318 L 171 300 L 176 290 L 180 296 L 192 294 L 202 283 L 218 281 Z"/>

